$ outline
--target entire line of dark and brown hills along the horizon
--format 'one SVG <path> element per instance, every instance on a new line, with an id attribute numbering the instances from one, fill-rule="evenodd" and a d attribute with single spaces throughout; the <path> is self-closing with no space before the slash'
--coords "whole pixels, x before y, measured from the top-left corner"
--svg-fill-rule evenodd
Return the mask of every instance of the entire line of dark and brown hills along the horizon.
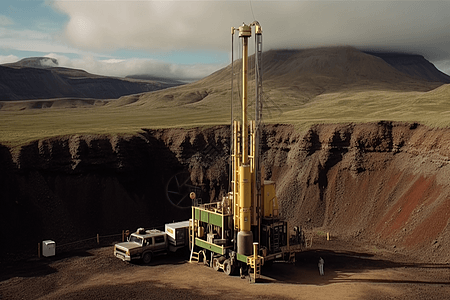
<path id="1" fill-rule="evenodd" d="M 323 47 L 263 52 L 264 93 L 277 105 L 305 104 L 316 96 L 346 90 L 426 92 L 450 82 L 420 55 L 365 53 L 354 47 Z M 0 101 L 56 98 L 117 99 L 132 96 L 133 103 L 146 101 L 160 105 L 218 103 L 229 99 L 231 64 L 189 84 L 166 78 L 154 80 L 142 75 L 113 78 L 61 67 L 24 67 L 51 65 L 57 61 L 42 58 L 0 65 Z M 249 77 L 254 76 L 254 56 L 249 58 Z M 239 61 L 235 61 L 238 74 Z M 238 93 L 238 79 L 234 82 Z M 164 90 L 167 87 L 175 87 Z M 155 93 L 146 93 L 160 90 Z M 238 99 L 238 97 L 236 97 Z M 123 103 L 128 103 L 126 100 Z M 209 105 L 208 104 L 208 105 Z"/>

